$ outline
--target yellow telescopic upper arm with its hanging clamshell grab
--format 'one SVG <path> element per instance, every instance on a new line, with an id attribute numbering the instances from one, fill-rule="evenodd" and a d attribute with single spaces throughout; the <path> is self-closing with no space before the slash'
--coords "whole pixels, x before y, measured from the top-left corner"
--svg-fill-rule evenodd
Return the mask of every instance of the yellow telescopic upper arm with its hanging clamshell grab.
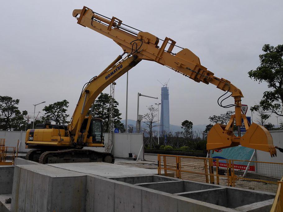
<path id="1" fill-rule="evenodd" d="M 159 46 L 161 39 L 157 36 L 130 27 L 116 17 L 107 18 L 85 6 L 83 9 L 75 9 L 73 16 L 77 19 L 78 24 L 111 38 L 121 46 L 124 53 L 137 56 L 139 61 L 155 61 L 193 79 L 195 82 L 211 83 L 222 91 L 231 92 L 231 96 L 235 102 L 234 105 L 230 106 L 235 106 L 235 114 L 231 116 L 227 125 L 216 124 L 212 127 L 208 133 L 208 150 L 242 145 L 244 147 L 270 152 L 271 156 L 276 155 L 272 137 L 267 129 L 255 123 L 250 125 L 246 116 L 241 113 L 241 98 L 244 96 L 240 89 L 230 81 L 214 76 L 214 73 L 200 64 L 199 57 L 189 49 L 177 46 L 173 39 L 167 37 L 162 40 L 163 42 Z M 173 53 L 174 47 L 179 47 L 181 50 Z M 92 98 L 91 101 L 93 100 Z M 221 103 L 219 105 L 222 106 Z M 75 130 L 80 125 L 77 114 L 78 112 L 75 111 L 73 120 L 69 125 L 70 130 Z M 242 120 L 244 120 L 245 128 L 247 129 L 244 136 L 240 135 Z M 238 128 L 237 136 L 233 133 L 234 123 Z"/>

